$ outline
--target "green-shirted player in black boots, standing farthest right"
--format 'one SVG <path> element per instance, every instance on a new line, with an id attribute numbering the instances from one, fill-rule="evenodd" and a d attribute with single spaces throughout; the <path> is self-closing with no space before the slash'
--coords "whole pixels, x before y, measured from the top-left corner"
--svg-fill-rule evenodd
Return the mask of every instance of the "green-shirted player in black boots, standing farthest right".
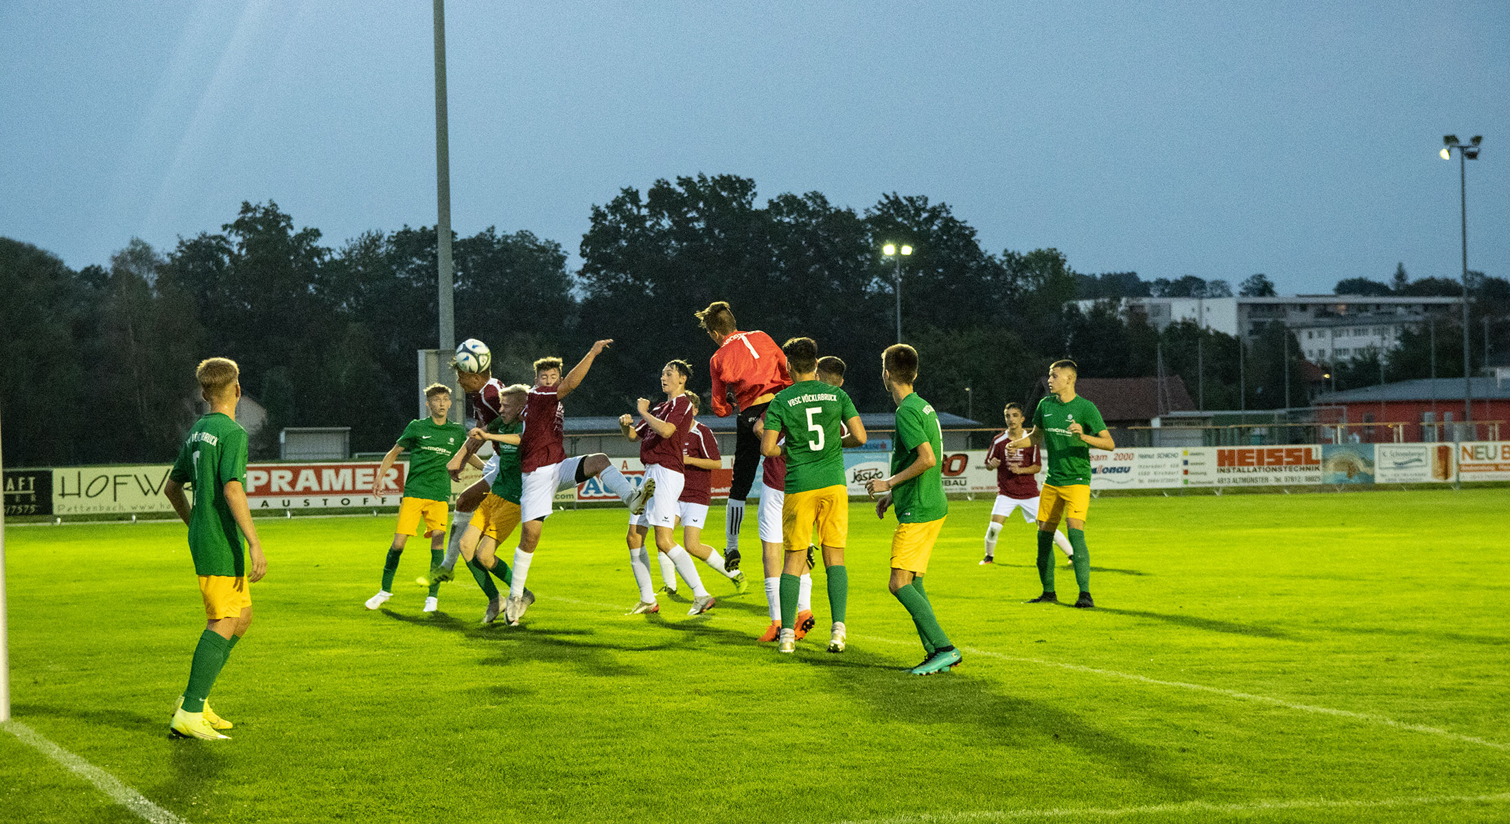
<path id="1" fill-rule="evenodd" d="M 1090 449 L 1116 449 L 1111 432 L 1095 404 L 1075 395 L 1080 367 L 1072 360 L 1055 360 L 1048 367 L 1049 395 L 1039 401 L 1033 413 L 1033 429 L 1007 443 L 1019 448 L 1043 445 L 1048 452 L 1048 478 L 1039 493 L 1039 581 L 1043 593 L 1028 603 L 1057 603 L 1054 593 L 1054 528 L 1065 517 L 1069 546 L 1075 549 L 1075 582 L 1080 597 L 1075 606 L 1090 609 L 1090 552 L 1086 549 L 1086 514 L 1090 510 Z M 1092 434 L 1095 432 L 1095 434 Z"/>

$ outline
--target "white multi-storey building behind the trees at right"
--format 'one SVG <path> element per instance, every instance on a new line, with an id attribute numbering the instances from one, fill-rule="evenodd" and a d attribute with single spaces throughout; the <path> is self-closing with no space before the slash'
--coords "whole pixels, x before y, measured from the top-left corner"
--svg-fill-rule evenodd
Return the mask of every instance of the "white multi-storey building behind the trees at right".
<path id="1" fill-rule="evenodd" d="M 1279 321 L 1300 340 L 1306 360 L 1339 363 L 1367 352 L 1389 351 L 1406 328 L 1428 318 L 1462 311 L 1462 298 L 1370 298 L 1362 295 L 1294 295 L 1274 298 L 1111 298 L 1123 318 L 1142 314 L 1155 330 L 1194 321 L 1213 331 L 1253 343 L 1264 327 Z M 1098 301 L 1074 301 L 1089 311 Z M 1105 302 L 1099 301 L 1099 302 Z"/>

